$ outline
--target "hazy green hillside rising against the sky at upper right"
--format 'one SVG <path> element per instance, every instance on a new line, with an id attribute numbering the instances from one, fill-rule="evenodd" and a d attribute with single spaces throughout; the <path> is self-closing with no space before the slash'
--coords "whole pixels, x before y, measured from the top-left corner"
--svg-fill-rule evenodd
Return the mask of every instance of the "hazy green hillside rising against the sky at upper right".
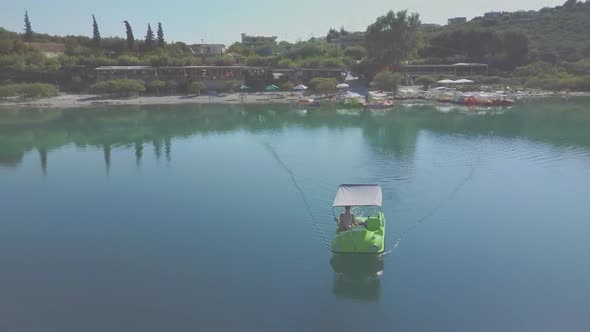
<path id="1" fill-rule="evenodd" d="M 566 61 L 590 57 L 590 0 L 569 0 L 563 6 L 539 11 L 486 13 L 466 24 L 450 25 L 436 31 L 466 28 L 500 33 L 520 31 L 528 36 L 531 48 L 538 52 L 555 52 Z"/>

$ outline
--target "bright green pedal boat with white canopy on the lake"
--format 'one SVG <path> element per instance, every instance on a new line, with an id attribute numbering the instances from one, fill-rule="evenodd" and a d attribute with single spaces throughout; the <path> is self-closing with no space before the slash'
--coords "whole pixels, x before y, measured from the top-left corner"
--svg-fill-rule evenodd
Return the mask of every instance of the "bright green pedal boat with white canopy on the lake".
<path id="1" fill-rule="evenodd" d="M 382 203 L 383 194 L 378 185 L 341 185 L 334 200 L 333 212 L 338 230 L 330 251 L 338 254 L 383 253 L 385 216 Z M 346 218 L 350 218 L 350 214 L 354 215 L 357 225 L 347 227 Z"/>

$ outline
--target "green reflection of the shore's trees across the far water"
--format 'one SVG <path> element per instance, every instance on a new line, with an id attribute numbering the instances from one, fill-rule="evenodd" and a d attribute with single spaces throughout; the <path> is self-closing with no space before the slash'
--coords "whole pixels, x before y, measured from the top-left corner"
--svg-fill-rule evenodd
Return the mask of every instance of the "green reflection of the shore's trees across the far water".
<path id="1" fill-rule="evenodd" d="M 37 150 L 41 170 L 47 172 L 52 150 L 68 144 L 103 150 L 105 168 L 111 166 L 113 147 L 133 147 L 137 165 L 151 146 L 160 160 L 162 149 L 172 159 L 173 140 L 191 135 L 215 135 L 236 130 L 276 131 L 284 126 L 304 128 L 360 127 L 367 142 L 381 156 L 399 161 L 397 180 L 410 178 L 420 132 L 495 135 L 539 140 L 562 146 L 590 148 L 590 115 L 585 99 L 521 103 L 508 112 L 490 115 L 441 113 L 434 106 L 403 107 L 373 114 L 318 109 L 301 113 L 291 106 L 176 106 L 111 107 L 74 110 L 2 110 L 0 166 L 17 167 L 25 153 Z M 386 159 L 377 162 L 387 162 Z M 383 179 L 388 180 L 388 179 Z M 391 179 L 389 179 L 391 180 Z"/>

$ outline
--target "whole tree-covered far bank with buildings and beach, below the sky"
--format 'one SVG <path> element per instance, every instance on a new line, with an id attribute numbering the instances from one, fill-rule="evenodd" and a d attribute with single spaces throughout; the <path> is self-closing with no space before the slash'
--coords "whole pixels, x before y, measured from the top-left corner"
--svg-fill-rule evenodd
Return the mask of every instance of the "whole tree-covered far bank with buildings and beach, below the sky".
<path id="1" fill-rule="evenodd" d="M 295 43 L 242 34 L 225 47 L 168 42 L 160 22 L 137 39 L 125 20 L 126 38 L 105 38 L 94 16 L 92 37 L 50 36 L 38 33 L 26 12 L 23 33 L 0 28 L 0 104 L 338 102 L 346 91 L 364 99 L 370 90 L 422 100 L 590 92 L 589 22 L 590 1 L 446 26 L 390 11 L 365 31 L 330 29 Z M 444 83 L 451 81 L 468 83 Z"/>

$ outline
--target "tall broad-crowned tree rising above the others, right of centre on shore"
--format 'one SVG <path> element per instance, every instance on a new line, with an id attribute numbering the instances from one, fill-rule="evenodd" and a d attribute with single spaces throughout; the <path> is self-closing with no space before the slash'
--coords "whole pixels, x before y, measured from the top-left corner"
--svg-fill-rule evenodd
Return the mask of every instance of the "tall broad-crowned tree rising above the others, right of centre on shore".
<path id="1" fill-rule="evenodd" d="M 369 57 L 380 66 L 396 66 L 413 55 L 420 41 L 420 16 L 407 10 L 377 18 L 367 28 Z"/>

